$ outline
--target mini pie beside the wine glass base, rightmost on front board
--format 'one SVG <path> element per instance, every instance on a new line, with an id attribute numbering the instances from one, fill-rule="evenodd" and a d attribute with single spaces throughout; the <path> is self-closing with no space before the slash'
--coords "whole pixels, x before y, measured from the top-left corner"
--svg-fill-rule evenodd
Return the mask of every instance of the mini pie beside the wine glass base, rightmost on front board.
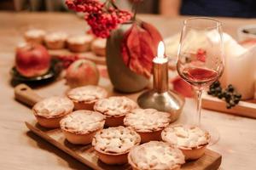
<path id="1" fill-rule="evenodd" d="M 186 160 L 200 158 L 207 148 L 210 135 L 200 127 L 170 126 L 161 133 L 162 139 L 170 144 L 176 144 L 183 151 Z"/>

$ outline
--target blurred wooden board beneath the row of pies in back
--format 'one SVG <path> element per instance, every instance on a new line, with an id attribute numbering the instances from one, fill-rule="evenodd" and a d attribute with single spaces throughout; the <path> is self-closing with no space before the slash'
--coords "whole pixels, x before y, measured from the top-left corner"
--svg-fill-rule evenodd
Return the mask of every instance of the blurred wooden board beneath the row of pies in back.
<path id="1" fill-rule="evenodd" d="M 105 56 L 97 56 L 92 52 L 84 52 L 84 53 L 73 53 L 68 49 L 49 49 L 49 54 L 53 57 L 58 56 L 68 56 L 68 55 L 77 55 L 81 59 L 89 59 L 95 62 L 97 65 L 106 65 L 106 57 Z"/>

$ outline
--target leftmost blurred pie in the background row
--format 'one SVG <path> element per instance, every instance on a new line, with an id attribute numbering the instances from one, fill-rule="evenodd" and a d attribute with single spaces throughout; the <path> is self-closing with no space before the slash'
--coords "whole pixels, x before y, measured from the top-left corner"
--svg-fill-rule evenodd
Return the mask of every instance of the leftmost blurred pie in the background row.
<path id="1" fill-rule="evenodd" d="M 44 35 L 44 30 L 31 29 L 25 32 L 24 37 L 26 39 L 26 42 L 41 44 L 44 42 Z"/>

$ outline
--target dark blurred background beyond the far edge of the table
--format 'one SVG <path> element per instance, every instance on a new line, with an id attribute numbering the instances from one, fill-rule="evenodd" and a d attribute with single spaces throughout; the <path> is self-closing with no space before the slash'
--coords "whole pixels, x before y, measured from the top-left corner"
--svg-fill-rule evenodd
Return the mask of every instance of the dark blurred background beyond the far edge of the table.
<path id="1" fill-rule="evenodd" d="M 103 1 L 103 0 L 100 0 Z M 133 0 L 116 0 L 132 8 Z M 15 11 L 67 11 L 65 0 L 0 0 L 0 9 Z M 143 0 L 138 13 L 166 16 L 201 15 L 256 18 L 256 0 Z"/>

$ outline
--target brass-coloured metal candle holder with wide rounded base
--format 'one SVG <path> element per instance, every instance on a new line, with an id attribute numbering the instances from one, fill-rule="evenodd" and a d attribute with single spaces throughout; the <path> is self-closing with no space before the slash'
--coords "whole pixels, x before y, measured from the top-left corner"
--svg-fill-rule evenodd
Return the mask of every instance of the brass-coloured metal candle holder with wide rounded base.
<path id="1" fill-rule="evenodd" d="M 157 63 L 153 60 L 154 88 L 141 94 L 137 103 L 142 108 L 154 108 L 171 114 L 172 122 L 180 116 L 184 98 L 168 88 L 168 60 Z"/>

